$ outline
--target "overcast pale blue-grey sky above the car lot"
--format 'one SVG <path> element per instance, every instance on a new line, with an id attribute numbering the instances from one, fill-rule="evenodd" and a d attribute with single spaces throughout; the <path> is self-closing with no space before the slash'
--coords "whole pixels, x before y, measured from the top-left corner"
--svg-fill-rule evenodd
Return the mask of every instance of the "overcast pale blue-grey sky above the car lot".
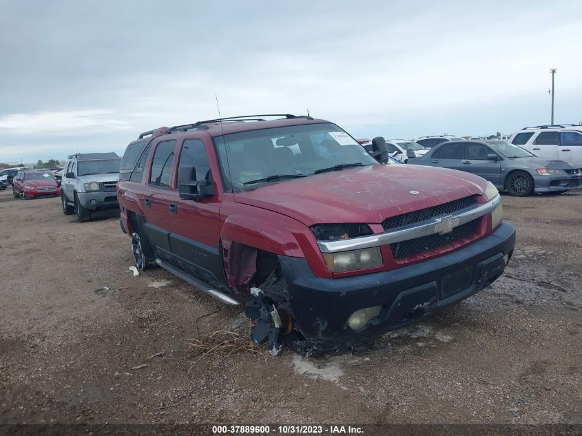
<path id="1" fill-rule="evenodd" d="M 0 0 L 0 161 L 218 116 L 357 137 L 582 122 L 582 1 Z"/>

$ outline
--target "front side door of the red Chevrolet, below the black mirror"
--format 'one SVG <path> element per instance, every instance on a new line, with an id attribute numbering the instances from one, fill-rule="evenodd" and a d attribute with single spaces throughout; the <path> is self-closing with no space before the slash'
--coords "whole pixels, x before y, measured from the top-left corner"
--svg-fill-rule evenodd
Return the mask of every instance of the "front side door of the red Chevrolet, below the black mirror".
<path id="1" fill-rule="evenodd" d="M 219 247 L 220 196 L 212 174 L 209 152 L 198 138 L 185 139 L 180 149 L 178 174 L 181 167 L 194 167 L 196 180 L 207 180 L 215 185 L 216 194 L 200 200 L 181 200 L 177 192 L 176 214 L 170 225 L 172 253 L 176 264 L 185 271 L 211 284 L 222 282 L 222 258 Z M 178 174 L 174 176 L 178 186 Z M 216 174 L 218 177 L 218 174 Z"/>

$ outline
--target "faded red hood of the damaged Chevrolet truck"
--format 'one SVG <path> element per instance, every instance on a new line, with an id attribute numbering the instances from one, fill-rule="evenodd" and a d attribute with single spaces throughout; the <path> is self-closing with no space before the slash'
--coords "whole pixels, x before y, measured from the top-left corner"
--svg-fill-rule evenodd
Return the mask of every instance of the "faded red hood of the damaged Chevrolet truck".
<path id="1" fill-rule="evenodd" d="M 371 165 L 264 185 L 236 193 L 234 200 L 287 215 L 308 226 L 380 223 L 391 216 L 482 194 L 485 185 L 483 178 L 453 169 Z"/>

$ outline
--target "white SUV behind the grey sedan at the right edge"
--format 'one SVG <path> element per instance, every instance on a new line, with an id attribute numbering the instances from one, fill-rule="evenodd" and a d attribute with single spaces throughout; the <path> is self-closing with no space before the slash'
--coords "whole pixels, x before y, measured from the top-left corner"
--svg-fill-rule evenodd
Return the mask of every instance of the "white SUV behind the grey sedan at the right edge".
<path id="1" fill-rule="evenodd" d="M 524 127 L 510 142 L 548 160 L 565 160 L 582 169 L 582 125 Z"/>

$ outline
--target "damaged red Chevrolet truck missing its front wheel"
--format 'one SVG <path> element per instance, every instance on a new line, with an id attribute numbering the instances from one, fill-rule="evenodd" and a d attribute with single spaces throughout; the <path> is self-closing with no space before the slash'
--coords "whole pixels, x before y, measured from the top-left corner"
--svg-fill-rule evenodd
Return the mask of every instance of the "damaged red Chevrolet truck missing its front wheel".
<path id="1" fill-rule="evenodd" d="M 269 117 L 160 127 L 127 146 L 117 195 L 139 268 L 245 302 L 272 355 L 350 346 L 501 276 L 515 229 L 491 183 L 383 165 L 329 121 Z"/>

